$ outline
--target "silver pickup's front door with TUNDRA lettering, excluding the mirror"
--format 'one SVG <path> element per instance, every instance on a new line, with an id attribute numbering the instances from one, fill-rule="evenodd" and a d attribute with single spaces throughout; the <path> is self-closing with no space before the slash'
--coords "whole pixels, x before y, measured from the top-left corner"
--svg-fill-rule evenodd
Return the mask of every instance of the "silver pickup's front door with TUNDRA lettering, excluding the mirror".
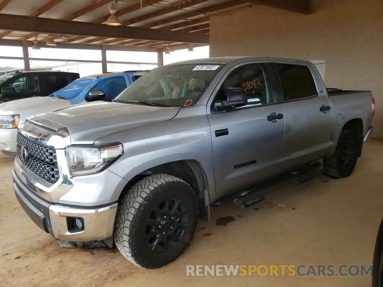
<path id="1" fill-rule="evenodd" d="M 270 86 L 263 63 L 232 68 L 208 107 L 217 199 L 279 173 L 284 121 Z M 242 88 L 248 104 L 226 112 L 214 110 L 214 101 L 224 100 L 230 87 Z"/>

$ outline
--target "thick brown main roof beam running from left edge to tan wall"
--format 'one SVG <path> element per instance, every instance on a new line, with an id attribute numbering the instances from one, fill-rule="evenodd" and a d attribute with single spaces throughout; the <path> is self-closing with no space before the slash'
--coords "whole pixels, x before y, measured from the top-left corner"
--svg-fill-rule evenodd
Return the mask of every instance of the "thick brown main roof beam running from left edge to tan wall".
<path id="1" fill-rule="evenodd" d="M 209 37 L 196 33 L 145 29 L 128 26 L 108 26 L 78 21 L 65 21 L 41 17 L 0 13 L 0 29 L 33 31 L 39 33 L 67 34 L 88 37 L 142 39 L 208 44 Z"/>

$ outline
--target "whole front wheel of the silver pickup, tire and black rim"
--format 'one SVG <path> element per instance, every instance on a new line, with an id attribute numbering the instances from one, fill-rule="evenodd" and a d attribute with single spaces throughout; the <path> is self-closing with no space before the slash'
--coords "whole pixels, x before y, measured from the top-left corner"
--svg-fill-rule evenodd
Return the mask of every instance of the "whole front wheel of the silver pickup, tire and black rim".
<path id="1" fill-rule="evenodd" d="M 154 174 L 137 182 L 122 199 L 114 239 L 133 264 L 154 269 L 177 259 L 198 222 L 198 199 L 180 178 Z"/>

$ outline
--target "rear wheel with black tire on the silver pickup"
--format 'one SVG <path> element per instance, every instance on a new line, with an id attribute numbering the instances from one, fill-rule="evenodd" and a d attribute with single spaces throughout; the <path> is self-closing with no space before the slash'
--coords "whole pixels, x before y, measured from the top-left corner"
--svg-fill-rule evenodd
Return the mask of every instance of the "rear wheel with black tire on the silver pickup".
<path id="1" fill-rule="evenodd" d="M 354 151 L 347 154 L 347 145 L 354 145 Z M 323 158 L 324 174 L 332 179 L 346 178 L 347 176 L 350 176 L 357 164 L 359 145 L 360 142 L 357 130 L 343 129 L 340 132 L 339 140 L 333 155 L 329 158 Z M 343 164 L 345 159 L 349 160 L 347 166 Z"/>

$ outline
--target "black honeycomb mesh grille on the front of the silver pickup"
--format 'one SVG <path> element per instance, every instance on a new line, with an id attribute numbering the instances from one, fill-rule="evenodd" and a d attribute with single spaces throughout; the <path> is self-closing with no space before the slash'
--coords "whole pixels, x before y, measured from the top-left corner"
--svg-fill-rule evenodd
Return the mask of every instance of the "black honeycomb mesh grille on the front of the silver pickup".
<path id="1" fill-rule="evenodd" d="M 17 133 L 16 142 L 16 157 L 39 177 L 50 183 L 56 183 L 59 179 L 59 169 L 54 147 L 28 139 L 20 132 Z M 24 149 L 28 154 L 26 157 L 23 156 Z"/>

